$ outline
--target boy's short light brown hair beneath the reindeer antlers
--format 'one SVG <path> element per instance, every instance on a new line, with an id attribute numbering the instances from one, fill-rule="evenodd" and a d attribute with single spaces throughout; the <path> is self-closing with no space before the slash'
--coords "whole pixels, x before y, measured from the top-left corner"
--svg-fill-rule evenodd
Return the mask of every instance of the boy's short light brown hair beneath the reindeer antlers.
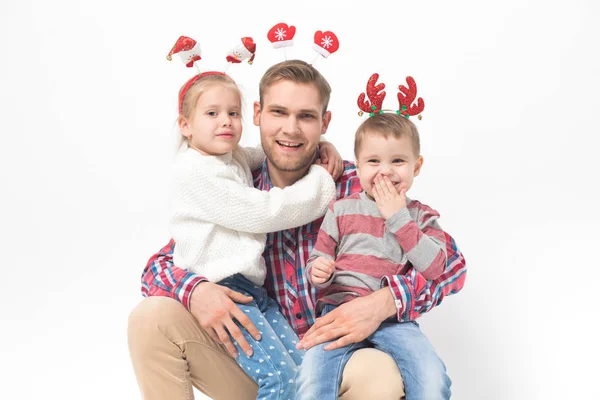
<path id="1" fill-rule="evenodd" d="M 399 139 L 406 135 L 410 138 L 415 157 L 421 155 L 419 131 L 414 123 L 402 115 L 396 113 L 375 114 L 364 120 L 356 130 L 354 136 L 354 157 L 357 160 L 362 141 L 367 134 L 380 135 L 386 139 L 390 136 Z"/>

